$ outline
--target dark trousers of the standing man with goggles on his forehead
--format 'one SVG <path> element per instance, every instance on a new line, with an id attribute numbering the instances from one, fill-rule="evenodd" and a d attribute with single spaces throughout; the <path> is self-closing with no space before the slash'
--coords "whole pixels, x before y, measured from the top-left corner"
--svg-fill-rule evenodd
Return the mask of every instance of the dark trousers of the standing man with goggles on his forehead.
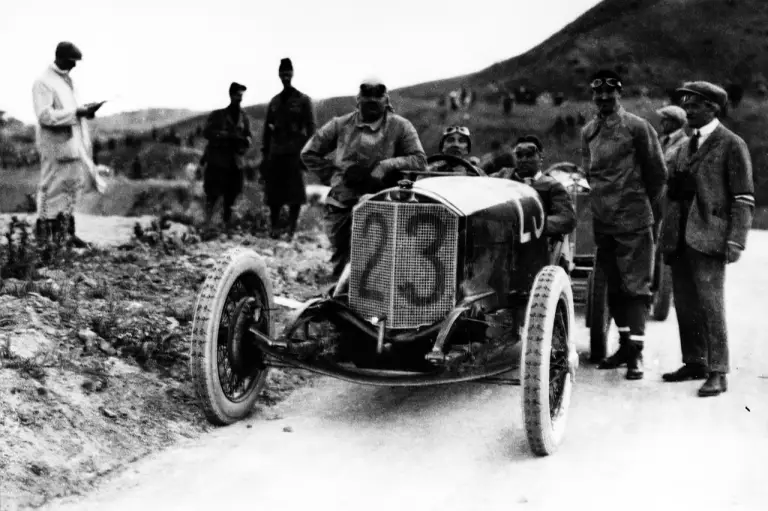
<path id="1" fill-rule="evenodd" d="M 606 277 L 608 308 L 622 339 L 645 341 L 653 277 L 651 227 L 629 233 L 596 232 L 595 244 L 595 264 Z"/>

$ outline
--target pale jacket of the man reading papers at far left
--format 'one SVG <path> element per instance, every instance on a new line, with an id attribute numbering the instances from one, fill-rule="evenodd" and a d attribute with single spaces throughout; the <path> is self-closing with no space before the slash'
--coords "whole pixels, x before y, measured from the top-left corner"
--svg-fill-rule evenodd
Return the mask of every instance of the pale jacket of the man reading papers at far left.
<path id="1" fill-rule="evenodd" d="M 76 115 L 79 101 L 71 78 L 54 65 L 49 66 L 32 85 L 32 101 L 41 159 L 90 161 L 88 124 Z"/>

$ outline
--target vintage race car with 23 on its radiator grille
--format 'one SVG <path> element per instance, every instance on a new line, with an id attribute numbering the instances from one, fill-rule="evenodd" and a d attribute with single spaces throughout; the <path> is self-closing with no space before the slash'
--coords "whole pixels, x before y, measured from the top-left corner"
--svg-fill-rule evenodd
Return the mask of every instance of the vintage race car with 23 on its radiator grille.
<path id="1" fill-rule="evenodd" d="M 551 264 L 561 245 L 543 237 L 544 219 L 525 184 L 403 179 L 355 206 L 350 264 L 278 336 L 264 262 L 227 253 L 194 317 L 191 372 L 206 416 L 247 416 L 271 367 L 381 386 L 506 383 L 523 387 L 531 450 L 554 452 L 578 356 L 571 281 Z"/>

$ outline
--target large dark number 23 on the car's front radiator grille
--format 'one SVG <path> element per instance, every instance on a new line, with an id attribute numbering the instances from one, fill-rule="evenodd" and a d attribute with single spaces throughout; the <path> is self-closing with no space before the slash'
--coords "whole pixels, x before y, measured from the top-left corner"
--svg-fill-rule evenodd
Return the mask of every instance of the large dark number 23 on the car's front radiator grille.
<path id="1" fill-rule="evenodd" d="M 363 224 L 363 236 L 370 234 L 371 228 L 377 225 L 381 232 L 381 237 L 374 249 L 373 254 L 368 258 L 365 263 L 365 269 L 360 276 L 360 297 L 368 300 L 382 301 L 384 299 L 383 293 L 378 289 L 373 289 L 370 286 L 371 272 L 381 263 L 384 249 L 387 246 L 389 238 L 389 226 L 387 225 L 386 217 L 379 212 L 369 214 Z M 432 228 L 433 241 L 427 244 L 421 251 L 421 257 L 428 261 L 434 270 L 434 285 L 432 290 L 425 294 L 420 295 L 419 289 L 413 282 L 403 282 L 397 288 L 400 295 L 411 305 L 426 306 L 431 305 L 443 296 L 445 292 L 445 265 L 439 258 L 439 251 L 445 241 L 446 226 L 440 217 L 432 215 L 413 215 L 408 219 L 408 223 L 405 226 L 405 233 L 408 236 L 416 236 L 419 230 L 422 228 Z M 398 254 L 393 254 L 394 257 L 398 257 Z"/>

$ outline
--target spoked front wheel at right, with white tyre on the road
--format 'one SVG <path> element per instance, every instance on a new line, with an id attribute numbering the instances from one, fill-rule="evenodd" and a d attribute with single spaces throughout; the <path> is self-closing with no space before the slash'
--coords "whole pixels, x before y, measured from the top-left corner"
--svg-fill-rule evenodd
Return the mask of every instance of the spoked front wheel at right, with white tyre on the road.
<path id="1" fill-rule="evenodd" d="M 531 451 L 555 452 L 565 433 L 573 375 L 573 291 L 565 271 L 547 266 L 536 276 L 523 331 L 523 416 Z"/>

